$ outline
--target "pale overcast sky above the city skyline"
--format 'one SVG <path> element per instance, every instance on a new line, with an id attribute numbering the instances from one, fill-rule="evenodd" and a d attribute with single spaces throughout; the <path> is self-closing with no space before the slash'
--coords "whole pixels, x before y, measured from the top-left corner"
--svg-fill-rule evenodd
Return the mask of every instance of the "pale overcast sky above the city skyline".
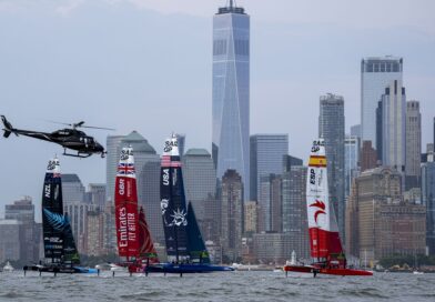
<path id="1" fill-rule="evenodd" d="M 160 152 L 172 132 L 211 147 L 212 17 L 225 0 L 0 0 L 0 113 L 16 128 L 47 120 L 135 129 Z M 435 115 L 435 1 L 239 0 L 251 16 L 251 133 L 289 133 L 306 160 L 318 97 L 345 100 L 360 123 L 363 57 L 404 58 L 407 98 L 421 101 L 423 144 Z M 87 131 L 105 143 L 105 131 Z M 425 147 L 424 147 L 425 149 Z M 40 203 L 58 145 L 0 139 L 0 217 L 21 195 Z M 60 157 L 84 185 L 105 161 Z"/>

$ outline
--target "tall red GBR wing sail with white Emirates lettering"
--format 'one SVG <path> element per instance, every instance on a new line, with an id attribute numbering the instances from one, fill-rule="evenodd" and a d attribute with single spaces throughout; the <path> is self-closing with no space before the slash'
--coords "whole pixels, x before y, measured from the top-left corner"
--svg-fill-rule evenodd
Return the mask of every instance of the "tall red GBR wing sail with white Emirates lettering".
<path id="1" fill-rule="evenodd" d="M 138 258 L 138 189 L 131 147 L 121 150 L 114 190 L 118 253 L 128 260 Z"/>

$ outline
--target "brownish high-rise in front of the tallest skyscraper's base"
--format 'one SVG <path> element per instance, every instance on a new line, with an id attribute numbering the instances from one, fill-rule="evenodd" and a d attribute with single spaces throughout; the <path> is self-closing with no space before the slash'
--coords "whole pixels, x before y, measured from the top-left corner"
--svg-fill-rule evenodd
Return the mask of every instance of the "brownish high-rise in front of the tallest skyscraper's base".
<path id="1" fill-rule="evenodd" d="M 237 262 L 242 252 L 243 235 L 243 183 L 235 170 L 227 170 L 221 189 L 221 244 L 230 262 Z"/>

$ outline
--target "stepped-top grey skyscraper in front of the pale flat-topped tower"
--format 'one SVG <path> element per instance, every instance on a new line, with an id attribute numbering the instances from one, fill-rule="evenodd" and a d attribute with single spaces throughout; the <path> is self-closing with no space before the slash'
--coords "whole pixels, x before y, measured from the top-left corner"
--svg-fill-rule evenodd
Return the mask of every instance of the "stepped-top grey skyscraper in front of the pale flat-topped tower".
<path id="1" fill-rule="evenodd" d="M 405 172 L 406 95 L 402 82 L 394 80 L 381 98 L 382 164 Z"/>

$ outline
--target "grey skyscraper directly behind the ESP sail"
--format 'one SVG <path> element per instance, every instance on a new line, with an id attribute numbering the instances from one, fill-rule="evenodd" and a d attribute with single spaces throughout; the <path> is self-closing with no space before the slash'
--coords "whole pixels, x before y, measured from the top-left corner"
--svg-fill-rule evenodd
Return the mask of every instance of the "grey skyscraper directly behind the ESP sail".
<path id="1" fill-rule="evenodd" d="M 330 200 L 344 239 L 344 99 L 327 93 L 320 99 L 318 137 L 325 140 Z"/>

